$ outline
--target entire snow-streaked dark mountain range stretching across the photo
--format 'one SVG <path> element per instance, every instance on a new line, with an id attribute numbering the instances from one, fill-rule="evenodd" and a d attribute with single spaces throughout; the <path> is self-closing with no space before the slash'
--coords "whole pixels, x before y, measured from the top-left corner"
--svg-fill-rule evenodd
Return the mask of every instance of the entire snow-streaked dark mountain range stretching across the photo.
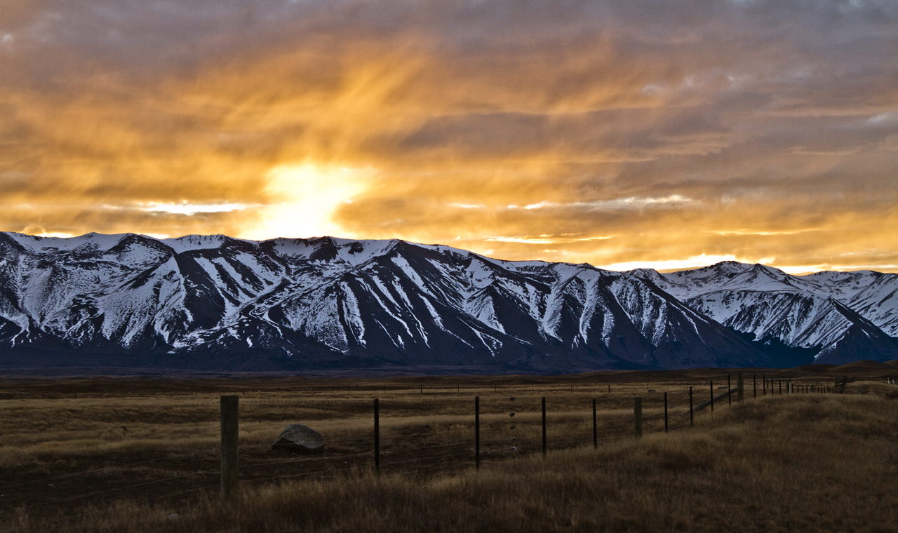
<path id="1" fill-rule="evenodd" d="M 571 372 L 898 359 L 898 275 L 402 240 L 0 232 L 0 367 Z"/>

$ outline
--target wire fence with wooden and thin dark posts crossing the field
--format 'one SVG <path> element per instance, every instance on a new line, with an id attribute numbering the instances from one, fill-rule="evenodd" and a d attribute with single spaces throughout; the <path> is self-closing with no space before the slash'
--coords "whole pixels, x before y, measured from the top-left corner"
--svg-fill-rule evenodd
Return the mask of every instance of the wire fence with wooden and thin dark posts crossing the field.
<path id="1" fill-rule="evenodd" d="M 752 389 L 747 394 L 758 398 L 767 394 L 841 392 L 847 381 L 847 378 L 836 380 L 832 387 L 817 384 L 796 387 L 790 380 L 753 376 Z M 22 491 L 33 494 L 29 502 L 17 502 L 16 498 L 9 500 L 14 507 L 8 506 L 3 510 L 4 514 L 56 510 L 57 515 L 63 515 L 48 520 L 50 524 L 84 517 L 86 514 L 80 511 L 84 503 L 100 505 L 109 503 L 110 498 L 140 503 L 166 502 L 172 510 L 180 511 L 196 504 L 200 495 L 220 492 L 231 497 L 241 487 L 295 479 L 365 471 L 374 471 L 379 476 L 430 476 L 446 470 L 480 468 L 483 463 L 530 455 L 546 456 L 553 450 L 585 446 L 597 449 L 649 433 L 682 430 L 693 424 L 701 413 L 720 408 L 724 402 L 730 405 L 734 397 L 737 401 L 745 398 L 745 385 L 741 374 L 737 376 L 735 387 L 732 387 L 729 376 L 726 385 L 718 386 L 718 389 L 715 389 L 714 380 L 701 387 L 689 385 L 688 401 L 682 388 L 656 393 L 648 386 L 644 393 L 638 394 L 632 390 L 635 387 L 630 386 L 623 396 L 612 398 L 611 385 L 605 391 L 604 384 L 595 386 L 591 392 L 606 396 L 575 394 L 573 386 L 569 395 L 566 395 L 567 390 L 556 388 L 553 396 L 540 395 L 535 386 L 529 391 L 525 386 L 504 389 L 506 395 L 500 396 L 496 386 L 492 390 L 493 396 L 473 398 L 462 397 L 461 387 L 455 390 L 457 396 L 454 398 L 448 394 L 428 396 L 423 386 L 414 390 L 390 389 L 385 393 L 402 392 L 404 396 L 339 401 L 321 398 L 327 391 L 315 389 L 309 392 L 315 399 L 306 397 L 302 400 L 282 395 L 280 390 L 273 398 L 224 395 L 215 401 L 208 395 L 201 402 L 202 406 L 207 410 L 217 408 L 220 420 L 199 423 L 197 433 L 205 432 L 202 434 L 208 437 L 217 430 L 218 446 L 208 441 L 202 448 L 187 453 L 127 451 L 123 446 L 126 452 L 110 454 L 109 460 L 102 465 L 82 469 L 70 467 L 62 474 L 34 478 L 28 478 L 25 469 L 18 477 L 4 476 L 5 480 L 13 479 L 13 482 L 0 485 L 0 494 L 7 500 Z M 720 392 L 721 387 L 723 392 Z M 353 392 L 352 388 L 348 389 L 348 393 Z M 412 392 L 417 392 L 417 397 L 409 394 Z M 102 395 L 97 397 L 102 398 Z M 82 394 L 81 398 L 89 397 Z M 428 400 L 434 402 L 429 407 Z M 629 407 L 623 404 L 626 401 L 632 402 Z M 241 443 L 241 432 L 251 433 L 253 424 L 261 424 L 260 419 L 252 422 L 252 416 L 241 421 L 242 406 L 249 407 L 250 414 L 254 415 L 254 406 L 259 406 L 259 410 L 271 410 L 271 406 L 297 403 L 311 404 L 315 409 L 336 408 L 358 416 L 352 419 L 354 425 L 348 430 L 335 432 L 328 438 L 321 453 L 284 456 L 272 450 L 270 443 Z M 424 407 L 416 411 L 410 406 Z M 427 409 L 438 414 L 416 415 Z M 369 422 L 364 422 L 365 414 L 370 416 Z M 271 440 L 269 438 L 269 442 Z M 53 451 L 80 448 L 89 446 Z M 114 479 L 110 480 L 110 477 Z M 54 490 L 48 490 L 50 487 Z"/>

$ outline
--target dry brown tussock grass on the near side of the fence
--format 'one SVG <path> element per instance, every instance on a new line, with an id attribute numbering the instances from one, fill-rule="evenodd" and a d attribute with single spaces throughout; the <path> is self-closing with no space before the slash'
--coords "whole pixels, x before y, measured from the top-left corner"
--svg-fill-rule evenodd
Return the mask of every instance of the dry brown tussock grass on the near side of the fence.
<path id="1" fill-rule="evenodd" d="M 22 531 L 404 532 L 404 531 L 895 531 L 898 524 L 898 401 L 894 387 L 858 383 L 845 395 L 747 398 L 696 419 L 692 428 L 651 433 L 599 450 L 554 450 L 488 461 L 480 471 L 450 465 L 441 473 L 404 471 L 280 484 L 244 484 L 234 502 L 214 492 L 165 502 L 122 499 L 76 511 L 13 511 L 0 529 Z M 582 399 L 582 398 L 581 398 Z M 571 399 L 571 406 L 579 402 Z M 582 403 L 579 403 L 582 406 Z M 410 409 L 410 407 L 409 407 Z M 498 410 L 497 410 L 498 411 Z M 410 413 L 410 410 L 409 410 Z M 577 430 L 591 412 L 558 414 Z M 631 415 L 619 407 L 609 419 Z M 538 415 L 524 412 L 527 431 Z M 485 424 L 505 424 L 496 412 Z M 385 438 L 422 427 L 439 438 L 469 421 L 462 415 L 388 419 Z M 245 441 L 269 431 L 260 421 Z M 348 438 L 365 419 L 322 421 Z M 335 433 L 335 434 L 337 434 Z M 170 519 L 172 513 L 178 517 Z M 68 516 L 71 520 L 59 520 Z M 58 520 L 58 521 L 54 521 Z"/>

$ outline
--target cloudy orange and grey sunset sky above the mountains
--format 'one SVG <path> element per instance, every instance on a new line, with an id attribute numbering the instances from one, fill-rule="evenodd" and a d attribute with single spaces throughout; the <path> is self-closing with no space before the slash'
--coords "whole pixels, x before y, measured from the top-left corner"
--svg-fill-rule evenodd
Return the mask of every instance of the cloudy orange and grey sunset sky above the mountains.
<path id="1" fill-rule="evenodd" d="M 0 0 L 0 231 L 898 272 L 895 0 Z"/>

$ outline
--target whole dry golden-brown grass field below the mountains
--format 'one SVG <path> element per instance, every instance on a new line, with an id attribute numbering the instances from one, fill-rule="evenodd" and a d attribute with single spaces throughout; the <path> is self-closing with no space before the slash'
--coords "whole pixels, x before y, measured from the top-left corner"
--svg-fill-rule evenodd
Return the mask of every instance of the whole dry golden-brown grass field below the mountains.
<path id="1" fill-rule="evenodd" d="M 749 370 L 744 402 L 718 402 L 692 427 L 689 387 L 698 404 L 710 380 L 726 389 L 726 371 L 5 380 L 0 530 L 898 531 L 898 386 L 885 384 L 896 370 Z M 817 388 L 841 373 L 859 378 L 845 394 L 762 388 L 762 374 Z M 218 497 L 222 394 L 241 402 L 242 494 L 231 502 Z M 644 402 L 641 439 L 634 397 Z M 271 450 L 291 423 L 323 433 L 324 450 Z"/>

